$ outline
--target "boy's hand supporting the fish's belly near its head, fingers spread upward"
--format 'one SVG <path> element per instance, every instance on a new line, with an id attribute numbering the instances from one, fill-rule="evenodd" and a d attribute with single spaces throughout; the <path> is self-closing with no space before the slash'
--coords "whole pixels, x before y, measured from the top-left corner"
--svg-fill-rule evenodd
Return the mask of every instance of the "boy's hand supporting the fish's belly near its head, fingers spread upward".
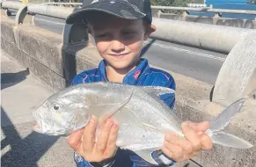
<path id="1" fill-rule="evenodd" d="M 97 119 L 92 117 L 84 129 L 69 135 L 69 146 L 88 162 L 102 162 L 115 155 L 118 125 L 108 119 L 102 124 L 98 142 L 95 142 Z"/>

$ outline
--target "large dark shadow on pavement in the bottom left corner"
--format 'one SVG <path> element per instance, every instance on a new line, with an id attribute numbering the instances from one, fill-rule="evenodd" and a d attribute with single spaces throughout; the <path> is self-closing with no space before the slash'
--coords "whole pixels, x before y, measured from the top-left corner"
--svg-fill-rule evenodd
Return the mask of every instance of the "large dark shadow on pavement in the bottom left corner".
<path id="1" fill-rule="evenodd" d="M 10 126 L 2 127 L 3 121 L 5 125 L 8 123 Z M 1 166 L 4 167 L 37 167 L 37 162 L 40 160 L 40 157 L 43 156 L 59 138 L 56 136 L 38 134 L 36 132 L 32 132 L 28 134 L 26 138 L 22 138 L 4 112 L 2 106 L 1 127 L 3 130 L 2 136 L 5 136 L 1 141 L 1 152 L 6 146 L 11 146 L 11 150 L 1 157 Z"/>

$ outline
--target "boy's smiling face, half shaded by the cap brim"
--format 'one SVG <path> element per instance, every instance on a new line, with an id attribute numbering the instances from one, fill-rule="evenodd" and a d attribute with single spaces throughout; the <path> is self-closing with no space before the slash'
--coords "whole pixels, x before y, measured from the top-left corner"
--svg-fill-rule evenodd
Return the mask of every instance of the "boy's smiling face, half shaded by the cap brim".
<path id="1" fill-rule="evenodd" d="M 91 20 L 88 31 L 108 65 L 129 69 L 139 60 L 143 40 L 147 40 L 154 29 L 147 28 L 142 19 L 127 20 L 106 14 Z"/>

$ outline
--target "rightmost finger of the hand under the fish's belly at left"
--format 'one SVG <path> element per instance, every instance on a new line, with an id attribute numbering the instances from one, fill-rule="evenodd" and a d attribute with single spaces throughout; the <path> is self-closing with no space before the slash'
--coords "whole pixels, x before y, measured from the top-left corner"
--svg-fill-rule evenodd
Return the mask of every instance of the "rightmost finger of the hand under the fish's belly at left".
<path id="1" fill-rule="evenodd" d="M 113 153 L 116 151 L 116 140 L 118 136 L 118 129 L 119 126 L 118 124 L 113 124 L 110 134 L 108 136 L 108 140 L 106 143 L 106 150 L 105 150 L 105 155 L 106 156 L 113 156 Z"/>

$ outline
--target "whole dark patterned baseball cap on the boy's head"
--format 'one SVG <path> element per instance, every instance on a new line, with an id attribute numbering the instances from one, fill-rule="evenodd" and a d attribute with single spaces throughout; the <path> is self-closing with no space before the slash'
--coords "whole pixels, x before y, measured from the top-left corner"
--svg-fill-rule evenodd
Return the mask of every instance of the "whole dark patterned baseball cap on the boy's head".
<path id="1" fill-rule="evenodd" d="M 90 4 L 83 3 L 80 9 L 73 11 L 66 19 L 66 23 L 81 23 L 90 11 L 105 12 L 118 18 L 145 18 L 152 22 L 150 0 L 93 0 Z"/>

